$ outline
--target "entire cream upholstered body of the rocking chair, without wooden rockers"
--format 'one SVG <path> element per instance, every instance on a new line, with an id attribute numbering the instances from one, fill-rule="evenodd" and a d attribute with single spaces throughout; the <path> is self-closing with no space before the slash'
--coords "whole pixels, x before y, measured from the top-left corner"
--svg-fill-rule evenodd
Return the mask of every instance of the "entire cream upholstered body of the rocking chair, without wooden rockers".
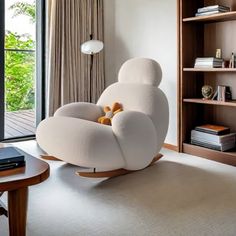
<path id="1" fill-rule="evenodd" d="M 42 121 L 37 142 L 49 155 L 65 162 L 102 170 L 138 170 L 160 151 L 169 121 L 168 102 L 158 88 L 161 68 L 151 59 L 134 58 L 121 67 L 118 82 L 97 104 L 71 103 Z M 123 105 L 112 126 L 95 122 L 103 106 Z"/>

